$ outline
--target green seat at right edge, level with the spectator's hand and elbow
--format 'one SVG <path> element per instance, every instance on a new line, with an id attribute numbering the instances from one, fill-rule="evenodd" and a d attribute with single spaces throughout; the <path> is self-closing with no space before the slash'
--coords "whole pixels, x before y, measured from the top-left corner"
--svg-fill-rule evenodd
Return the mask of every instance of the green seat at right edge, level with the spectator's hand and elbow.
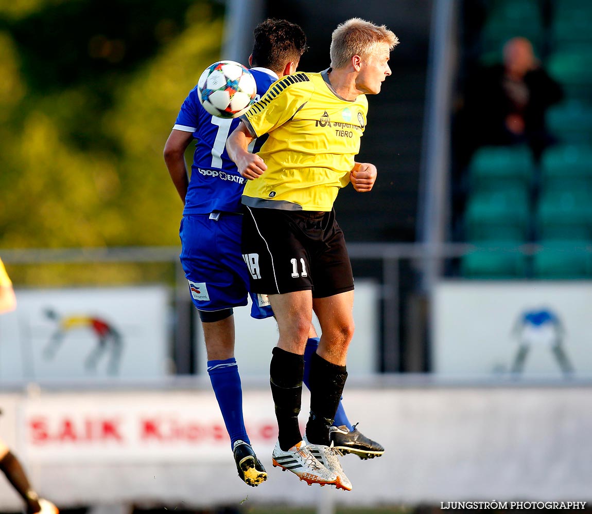
<path id="1" fill-rule="evenodd" d="M 592 145 L 592 106 L 577 99 L 552 106 L 547 126 L 560 141 Z"/>

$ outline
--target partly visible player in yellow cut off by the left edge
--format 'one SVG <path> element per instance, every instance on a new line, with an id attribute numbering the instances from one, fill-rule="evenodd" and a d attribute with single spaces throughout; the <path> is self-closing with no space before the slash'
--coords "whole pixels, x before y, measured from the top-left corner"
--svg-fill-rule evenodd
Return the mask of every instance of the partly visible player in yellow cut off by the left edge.
<path id="1" fill-rule="evenodd" d="M 0 259 L 0 314 L 14 311 L 16 307 L 17 298 L 12 289 L 12 282 Z M 0 470 L 21 496 L 27 514 L 58 514 L 59 511 L 52 502 L 37 496 L 20 461 L 2 439 L 0 439 Z"/>

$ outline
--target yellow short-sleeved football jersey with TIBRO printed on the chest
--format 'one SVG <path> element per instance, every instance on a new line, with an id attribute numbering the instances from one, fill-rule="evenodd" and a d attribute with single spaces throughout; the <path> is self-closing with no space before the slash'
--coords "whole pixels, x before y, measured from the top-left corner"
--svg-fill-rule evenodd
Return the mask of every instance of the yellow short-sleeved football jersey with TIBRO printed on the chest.
<path id="1" fill-rule="evenodd" d="M 338 96 L 321 73 L 276 81 L 243 116 L 267 170 L 247 181 L 243 204 L 272 209 L 330 211 L 349 173 L 366 127 L 368 100 Z"/>

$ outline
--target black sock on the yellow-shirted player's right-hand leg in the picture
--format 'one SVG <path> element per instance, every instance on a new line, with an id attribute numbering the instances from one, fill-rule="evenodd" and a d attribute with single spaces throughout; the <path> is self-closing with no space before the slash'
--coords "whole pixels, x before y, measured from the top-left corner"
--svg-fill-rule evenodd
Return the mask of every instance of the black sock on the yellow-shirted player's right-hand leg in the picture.
<path id="1" fill-rule="evenodd" d="M 339 406 L 348 372 L 314 353 L 310 360 L 310 417 L 306 438 L 312 444 L 329 446 L 329 428 Z"/>

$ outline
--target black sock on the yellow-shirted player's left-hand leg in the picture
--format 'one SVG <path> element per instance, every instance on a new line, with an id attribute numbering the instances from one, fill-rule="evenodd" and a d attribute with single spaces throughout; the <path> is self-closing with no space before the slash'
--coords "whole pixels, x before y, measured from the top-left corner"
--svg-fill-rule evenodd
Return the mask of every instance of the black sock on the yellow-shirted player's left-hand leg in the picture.
<path id="1" fill-rule="evenodd" d="M 302 441 L 298 414 L 302 403 L 304 357 L 275 347 L 269 365 L 269 383 L 278 419 L 279 447 L 287 451 Z"/>

